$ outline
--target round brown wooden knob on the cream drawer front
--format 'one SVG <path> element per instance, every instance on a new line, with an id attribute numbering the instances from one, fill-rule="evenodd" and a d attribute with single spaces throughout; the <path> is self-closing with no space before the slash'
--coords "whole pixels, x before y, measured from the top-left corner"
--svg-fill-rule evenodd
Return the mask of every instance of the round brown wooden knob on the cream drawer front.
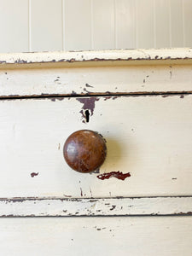
<path id="1" fill-rule="evenodd" d="M 96 131 L 75 131 L 63 147 L 68 166 L 77 172 L 92 172 L 102 166 L 107 154 L 104 139 Z"/>

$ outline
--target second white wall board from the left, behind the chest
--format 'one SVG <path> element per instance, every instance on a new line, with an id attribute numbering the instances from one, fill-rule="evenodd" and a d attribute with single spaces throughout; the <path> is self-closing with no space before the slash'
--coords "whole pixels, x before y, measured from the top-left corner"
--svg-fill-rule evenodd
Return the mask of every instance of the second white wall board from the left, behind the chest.
<path id="1" fill-rule="evenodd" d="M 62 49 L 62 1 L 31 0 L 31 50 Z"/>

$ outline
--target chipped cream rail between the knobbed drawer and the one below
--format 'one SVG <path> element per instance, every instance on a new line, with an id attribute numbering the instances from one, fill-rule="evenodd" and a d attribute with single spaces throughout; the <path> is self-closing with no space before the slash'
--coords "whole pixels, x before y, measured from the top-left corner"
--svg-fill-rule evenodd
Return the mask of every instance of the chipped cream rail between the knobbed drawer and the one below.
<path id="1" fill-rule="evenodd" d="M 0 199 L 1 217 L 192 214 L 192 197 Z"/>

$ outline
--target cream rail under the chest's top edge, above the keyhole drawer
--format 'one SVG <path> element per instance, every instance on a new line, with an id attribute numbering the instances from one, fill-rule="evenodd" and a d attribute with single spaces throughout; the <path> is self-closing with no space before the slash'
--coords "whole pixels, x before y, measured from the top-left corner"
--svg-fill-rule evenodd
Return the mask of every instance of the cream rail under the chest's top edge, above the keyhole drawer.
<path id="1" fill-rule="evenodd" d="M 192 64 L 174 65 L 171 61 L 169 65 L 154 65 L 148 61 L 134 66 L 127 61 L 127 65 L 119 66 L 120 61 L 114 61 L 110 66 L 103 61 L 105 66 L 101 67 L 100 63 L 96 67 L 55 67 L 55 62 L 50 68 L 5 66 L 0 69 L 0 97 L 192 92 Z M 84 108 L 89 104 L 82 99 L 79 102 Z"/>

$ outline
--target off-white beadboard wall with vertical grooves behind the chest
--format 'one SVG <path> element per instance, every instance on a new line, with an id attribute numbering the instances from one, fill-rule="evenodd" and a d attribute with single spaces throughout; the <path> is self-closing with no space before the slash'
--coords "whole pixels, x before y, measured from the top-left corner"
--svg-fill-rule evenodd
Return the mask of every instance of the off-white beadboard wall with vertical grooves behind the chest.
<path id="1" fill-rule="evenodd" d="M 0 0 L 0 52 L 192 46 L 192 0 Z"/>

